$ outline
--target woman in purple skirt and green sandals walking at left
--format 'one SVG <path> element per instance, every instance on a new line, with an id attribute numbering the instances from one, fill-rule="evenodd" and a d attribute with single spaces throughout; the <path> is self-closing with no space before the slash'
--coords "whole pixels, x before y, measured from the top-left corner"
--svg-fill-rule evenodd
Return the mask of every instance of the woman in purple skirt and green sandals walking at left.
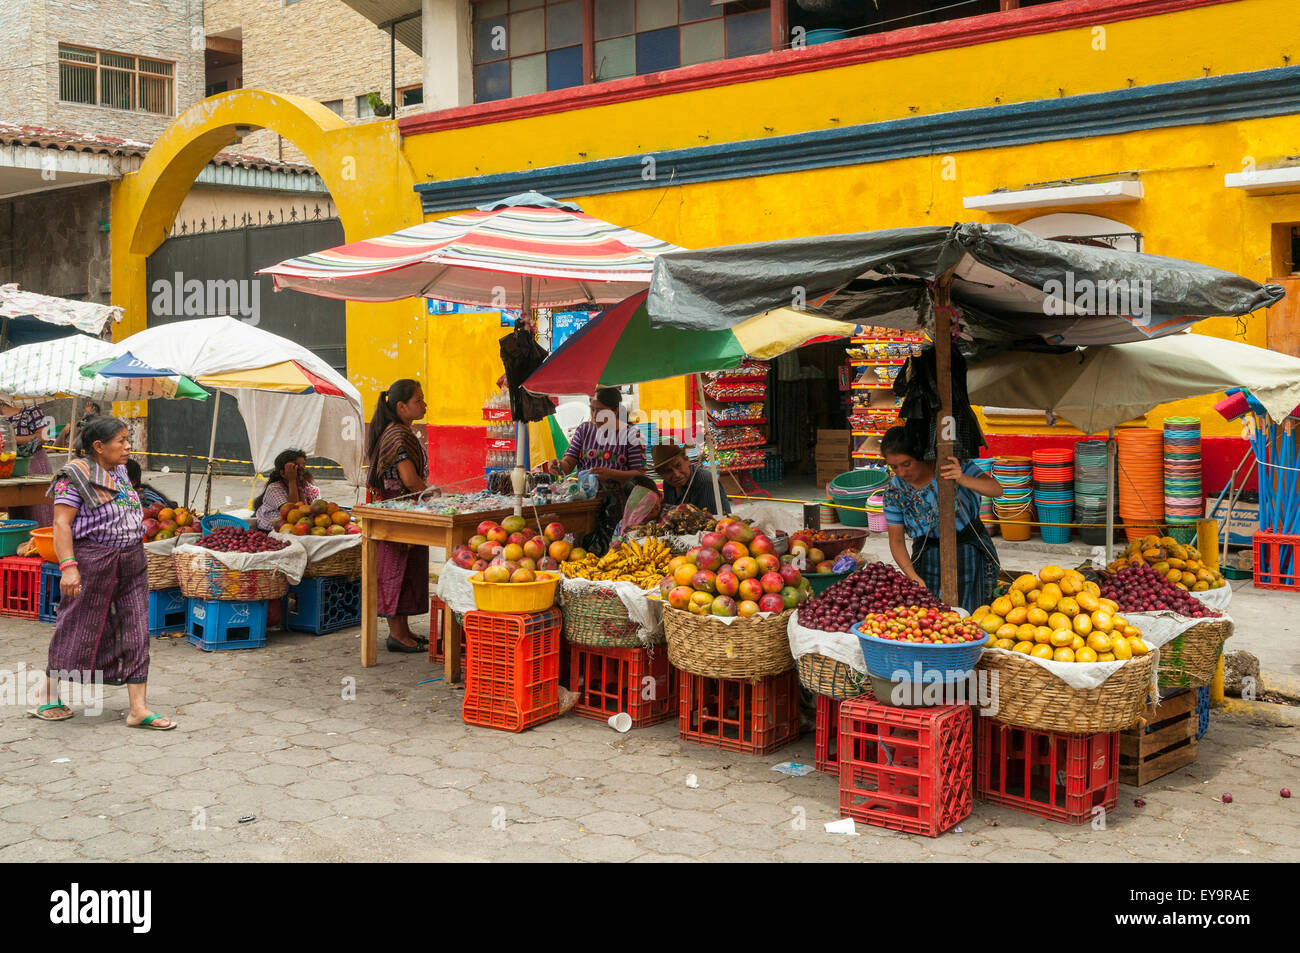
<path id="1" fill-rule="evenodd" d="M 94 417 L 83 423 L 77 437 L 77 458 L 49 486 L 61 601 L 49 640 L 46 701 L 27 712 L 44 722 L 73 716 L 57 696 L 56 673 L 82 672 L 83 679 L 126 685 L 127 727 L 176 728 L 176 722 L 150 711 L 146 703 L 148 569 L 140 498 L 126 473 L 130 455 L 126 424 L 117 417 Z"/>

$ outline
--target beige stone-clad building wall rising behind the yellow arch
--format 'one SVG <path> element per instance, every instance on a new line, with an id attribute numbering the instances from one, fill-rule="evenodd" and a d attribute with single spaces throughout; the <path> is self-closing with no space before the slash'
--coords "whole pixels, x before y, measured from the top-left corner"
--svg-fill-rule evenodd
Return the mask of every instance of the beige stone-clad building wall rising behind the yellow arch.
<path id="1" fill-rule="evenodd" d="M 203 14 L 209 36 L 243 40 L 244 87 L 342 101 L 348 122 L 370 121 L 358 116 L 358 96 L 378 92 L 389 100 L 389 36 L 342 0 L 207 0 Z M 420 56 L 398 43 L 398 88 L 420 82 Z M 402 114 L 422 109 L 410 107 Z M 292 143 L 269 130 L 244 137 L 239 151 L 306 161 Z"/>

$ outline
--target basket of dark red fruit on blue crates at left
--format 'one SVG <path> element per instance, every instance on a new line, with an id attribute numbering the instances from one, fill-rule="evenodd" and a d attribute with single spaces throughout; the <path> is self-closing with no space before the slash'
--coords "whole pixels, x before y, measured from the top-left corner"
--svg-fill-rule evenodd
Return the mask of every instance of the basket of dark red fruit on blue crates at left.
<path id="1" fill-rule="evenodd" d="M 259 529 L 224 527 L 194 543 L 177 546 L 172 560 L 181 593 L 191 599 L 261 602 L 289 592 L 290 580 L 281 568 L 285 560 L 277 554 L 292 545 Z M 302 546 L 298 549 L 300 576 L 307 554 Z"/>

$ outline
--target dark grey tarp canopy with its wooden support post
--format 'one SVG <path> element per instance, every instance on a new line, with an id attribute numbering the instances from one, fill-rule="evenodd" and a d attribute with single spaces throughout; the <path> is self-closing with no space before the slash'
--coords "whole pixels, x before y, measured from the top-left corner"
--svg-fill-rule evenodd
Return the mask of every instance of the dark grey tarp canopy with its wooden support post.
<path id="1" fill-rule="evenodd" d="M 680 251 L 655 259 L 650 324 L 731 328 L 779 307 L 885 328 L 956 330 L 975 356 L 1011 347 L 1118 345 L 1201 317 L 1275 304 L 1260 285 L 1208 265 L 1039 238 L 1014 225 L 957 224 Z M 956 308 L 956 311 L 954 311 Z M 952 412 L 948 348 L 936 348 L 941 415 Z M 940 437 L 937 455 L 952 454 Z M 956 501 L 939 481 L 942 598 L 956 599 Z"/>

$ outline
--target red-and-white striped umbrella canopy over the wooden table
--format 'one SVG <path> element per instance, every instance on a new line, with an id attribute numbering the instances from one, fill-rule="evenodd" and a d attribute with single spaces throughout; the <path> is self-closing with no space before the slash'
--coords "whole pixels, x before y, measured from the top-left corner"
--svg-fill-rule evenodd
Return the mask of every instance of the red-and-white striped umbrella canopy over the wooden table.
<path id="1" fill-rule="evenodd" d="M 281 261 L 276 290 L 393 302 L 434 298 L 485 308 L 612 304 L 644 291 L 654 259 L 679 247 L 524 192 L 474 212 Z"/>

